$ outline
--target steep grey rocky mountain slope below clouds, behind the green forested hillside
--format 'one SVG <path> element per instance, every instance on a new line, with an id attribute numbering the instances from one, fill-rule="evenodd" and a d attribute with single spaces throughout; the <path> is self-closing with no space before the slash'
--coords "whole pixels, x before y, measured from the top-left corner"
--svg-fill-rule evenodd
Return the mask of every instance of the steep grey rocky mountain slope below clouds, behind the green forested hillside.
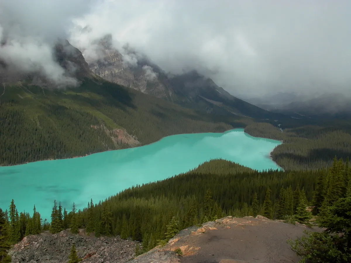
<path id="1" fill-rule="evenodd" d="M 101 58 L 90 62 L 89 67 L 105 80 L 206 113 L 259 119 L 281 117 L 232 96 L 196 71 L 171 76 L 143 55 L 130 51 L 123 56 L 112 47 L 109 36 L 98 46 Z"/>

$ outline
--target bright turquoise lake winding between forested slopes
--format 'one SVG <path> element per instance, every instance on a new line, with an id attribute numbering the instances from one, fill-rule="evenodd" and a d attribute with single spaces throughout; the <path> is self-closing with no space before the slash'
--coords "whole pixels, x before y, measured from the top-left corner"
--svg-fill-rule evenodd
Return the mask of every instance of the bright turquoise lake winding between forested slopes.
<path id="1" fill-rule="evenodd" d="M 224 133 L 179 134 L 131 149 L 106 151 L 85 157 L 39 161 L 0 167 L 0 207 L 12 199 L 19 211 L 51 221 L 53 201 L 71 210 L 84 208 L 136 184 L 163 180 L 222 158 L 256 169 L 278 169 L 270 152 L 280 141 L 256 138 L 244 129 Z"/>

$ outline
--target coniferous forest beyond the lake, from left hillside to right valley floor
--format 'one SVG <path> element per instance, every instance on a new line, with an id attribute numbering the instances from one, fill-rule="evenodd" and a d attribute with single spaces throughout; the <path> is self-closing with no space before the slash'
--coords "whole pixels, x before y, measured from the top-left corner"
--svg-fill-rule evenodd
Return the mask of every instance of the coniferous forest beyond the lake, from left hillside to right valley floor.
<path id="1" fill-rule="evenodd" d="M 0 98 L 0 166 L 139 146 L 173 134 L 233 128 L 283 141 L 272 158 L 288 170 L 326 168 L 334 156 L 345 159 L 351 152 L 350 121 L 297 120 L 284 115 L 275 120 L 277 114 L 263 120 L 211 107 L 212 113 L 180 107 L 99 78 L 72 89 L 42 88 L 24 81 L 8 87 Z M 139 143 L 121 140 L 125 134 L 114 134 L 121 129 Z"/>

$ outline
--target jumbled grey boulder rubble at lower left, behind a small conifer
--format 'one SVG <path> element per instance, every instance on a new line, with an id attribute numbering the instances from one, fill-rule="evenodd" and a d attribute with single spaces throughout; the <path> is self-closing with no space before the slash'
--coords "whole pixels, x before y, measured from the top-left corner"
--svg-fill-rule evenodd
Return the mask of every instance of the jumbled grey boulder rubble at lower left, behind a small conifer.
<path id="1" fill-rule="evenodd" d="M 44 232 L 27 236 L 14 246 L 10 255 L 13 263 L 65 263 L 75 244 L 82 263 L 122 263 L 134 258 L 136 243 L 119 237 L 73 235 L 64 230 L 54 235 Z"/>

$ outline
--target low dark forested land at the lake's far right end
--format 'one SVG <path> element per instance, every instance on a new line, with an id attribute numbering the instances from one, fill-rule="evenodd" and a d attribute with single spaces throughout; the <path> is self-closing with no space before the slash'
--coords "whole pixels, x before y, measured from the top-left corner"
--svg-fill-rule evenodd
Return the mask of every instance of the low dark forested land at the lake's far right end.
<path id="1" fill-rule="evenodd" d="M 335 156 L 346 159 L 351 154 L 350 124 L 344 121 L 322 122 L 321 125 L 316 123 L 283 131 L 270 123 L 260 122 L 246 126 L 245 132 L 256 137 L 283 141 L 272 151 L 271 156 L 288 170 L 324 168 L 332 164 Z"/>

